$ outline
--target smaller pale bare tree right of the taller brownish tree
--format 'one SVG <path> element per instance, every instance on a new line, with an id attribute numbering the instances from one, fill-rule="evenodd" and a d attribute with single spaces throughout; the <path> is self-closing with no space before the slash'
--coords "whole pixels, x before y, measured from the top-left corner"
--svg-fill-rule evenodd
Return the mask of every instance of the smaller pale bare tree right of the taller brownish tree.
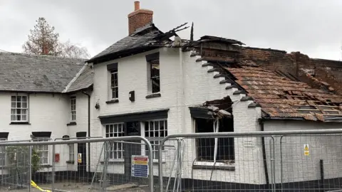
<path id="1" fill-rule="evenodd" d="M 65 58 L 90 58 L 87 48 L 73 44 L 70 40 L 60 43 L 59 50 L 60 56 Z"/>

